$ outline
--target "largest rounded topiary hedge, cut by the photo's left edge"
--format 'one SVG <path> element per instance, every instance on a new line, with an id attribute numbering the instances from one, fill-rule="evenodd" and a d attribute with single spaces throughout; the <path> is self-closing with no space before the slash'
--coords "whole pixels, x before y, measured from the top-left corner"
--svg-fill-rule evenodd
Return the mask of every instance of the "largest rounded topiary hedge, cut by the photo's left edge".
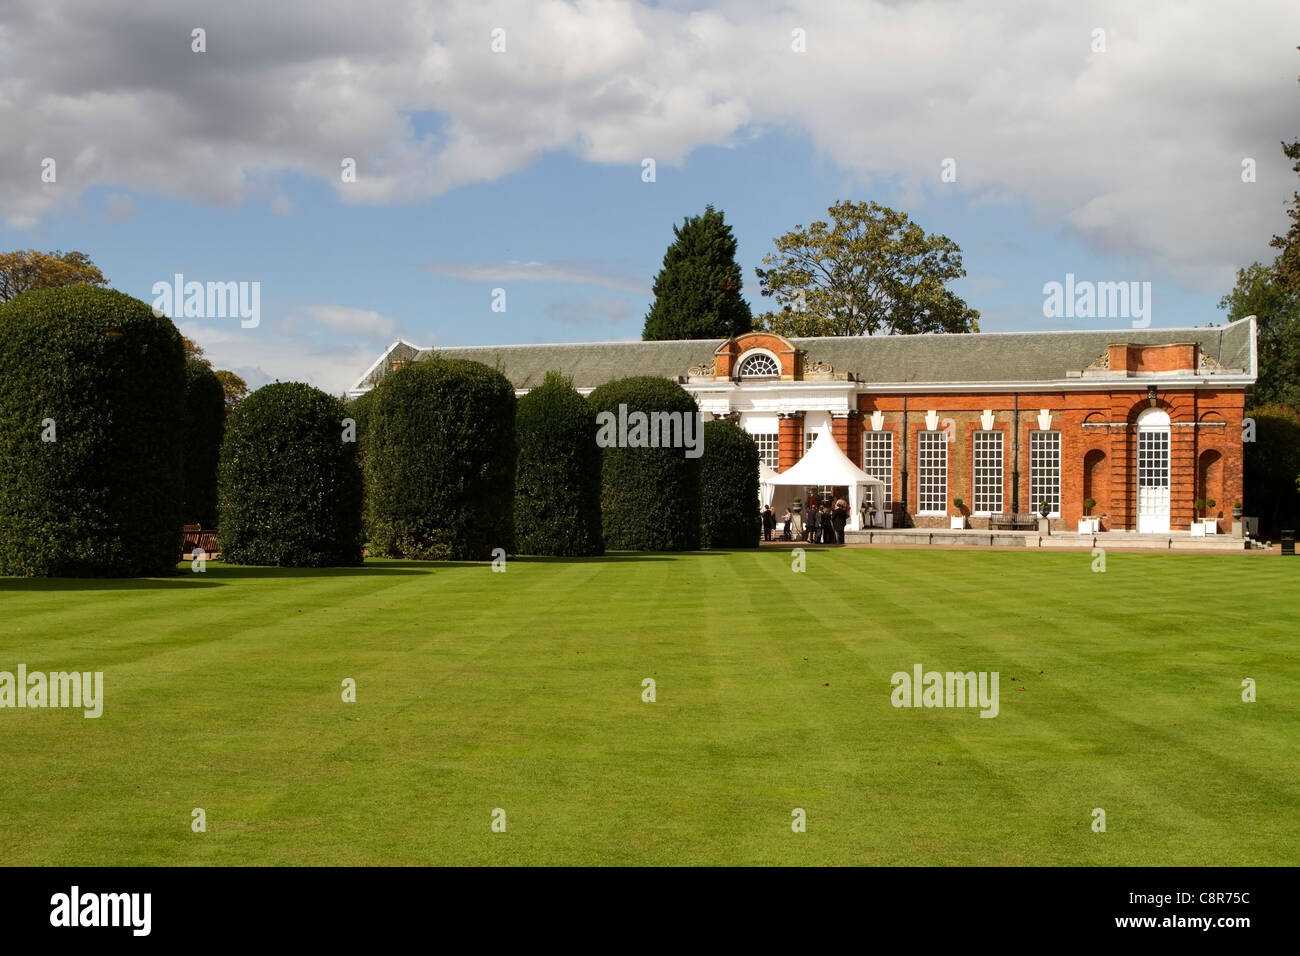
<path id="1" fill-rule="evenodd" d="M 173 572 L 183 429 L 169 319 L 87 285 L 0 306 L 0 574 Z"/>

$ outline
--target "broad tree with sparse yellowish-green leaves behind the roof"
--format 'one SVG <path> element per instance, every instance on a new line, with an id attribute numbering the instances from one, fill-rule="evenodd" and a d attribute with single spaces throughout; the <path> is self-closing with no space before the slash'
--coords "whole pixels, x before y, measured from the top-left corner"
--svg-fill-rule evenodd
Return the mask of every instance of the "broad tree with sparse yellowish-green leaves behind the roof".
<path id="1" fill-rule="evenodd" d="M 783 336 L 979 332 L 979 312 L 945 284 L 966 274 L 946 235 L 930 235 L 876 203 L 838 202 L 831 222 L 776 239 L 755 269 L 763 295 L 781 307 L 759 317 Z"/>

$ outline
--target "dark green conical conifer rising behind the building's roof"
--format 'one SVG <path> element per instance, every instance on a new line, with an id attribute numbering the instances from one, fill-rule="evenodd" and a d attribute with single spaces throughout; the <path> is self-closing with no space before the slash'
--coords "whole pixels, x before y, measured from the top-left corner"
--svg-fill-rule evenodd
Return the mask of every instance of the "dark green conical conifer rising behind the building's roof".
<path id="1" fill-rule="evenodd" d="M 754 328 L 749 303 L 740 295 L 736 238 L 712 206 L 672 228 L 676 237 L 663 254 L 654 281 L 654 304 L 644 339 L 731 338 Z"/>

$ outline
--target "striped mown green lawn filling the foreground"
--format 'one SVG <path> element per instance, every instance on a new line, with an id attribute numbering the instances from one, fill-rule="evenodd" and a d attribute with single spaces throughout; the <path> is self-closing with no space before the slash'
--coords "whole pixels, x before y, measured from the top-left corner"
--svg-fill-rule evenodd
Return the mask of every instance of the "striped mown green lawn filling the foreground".
<path id="1" fill-rule="evenodd" d="M 0 579 L 0 670 L 105 682 L 99 719 L 0 710 L 0 864 L 1300 862 L 1300 561 L 1091 564 Z M 998 671 L 1000 715 L 894 709 L 915 663 Z"/>

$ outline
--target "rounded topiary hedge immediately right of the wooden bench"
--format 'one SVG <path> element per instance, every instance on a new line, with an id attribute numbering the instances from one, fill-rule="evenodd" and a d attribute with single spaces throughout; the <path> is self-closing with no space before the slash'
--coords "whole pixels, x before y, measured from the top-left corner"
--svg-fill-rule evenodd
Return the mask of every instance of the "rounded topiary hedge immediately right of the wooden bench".
<path id="1" fill-rule="evenodd" d="M 217 470 L 221 557 L 233 564 L 361 563 L 361 471 L 343 402 L 264 385 L 226 423 Z"/>

